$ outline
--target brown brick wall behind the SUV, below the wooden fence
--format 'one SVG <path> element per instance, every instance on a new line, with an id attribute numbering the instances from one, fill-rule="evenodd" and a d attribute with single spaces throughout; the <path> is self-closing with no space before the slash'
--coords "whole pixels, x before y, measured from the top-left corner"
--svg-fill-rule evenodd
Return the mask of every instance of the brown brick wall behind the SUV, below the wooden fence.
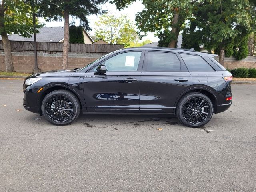
<path id="1" fill-rule="evenodd" d="M 82 68 L 90 62 L 104 56 L 106 53 L 78 53 L 70 52 L 68 68 Z M 216 58 L 218 60 L 218 58 Z M 16 72 L 32 73 L 34 68 L 34 53 L 32 51 L 12 52 L 12 61 Z M 42 71 L 62 68 L 62 52 L 39 52 L 38 67 Z M 234 69 L 239 67 L 256 68 L 256 57 L 248 56 L 246 59 L 236 61 L 235 58 L 225 58 L 225 68 Z M 4 52 L 0 51 L 0 71 L 5 70 Z"/>

